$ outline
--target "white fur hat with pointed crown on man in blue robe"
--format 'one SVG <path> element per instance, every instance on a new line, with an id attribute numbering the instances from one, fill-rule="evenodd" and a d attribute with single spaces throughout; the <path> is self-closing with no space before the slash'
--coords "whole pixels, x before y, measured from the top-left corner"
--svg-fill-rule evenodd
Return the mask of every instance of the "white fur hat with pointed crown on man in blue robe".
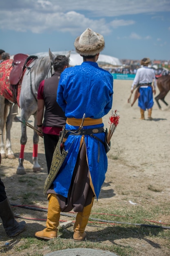
<path id="1" fill-rule="evenodd" d="M 75 39 L 76 52 L 82 56 L 94 56 L 104 49 L 104 38 L 92 29 L 86 29 Z"/>

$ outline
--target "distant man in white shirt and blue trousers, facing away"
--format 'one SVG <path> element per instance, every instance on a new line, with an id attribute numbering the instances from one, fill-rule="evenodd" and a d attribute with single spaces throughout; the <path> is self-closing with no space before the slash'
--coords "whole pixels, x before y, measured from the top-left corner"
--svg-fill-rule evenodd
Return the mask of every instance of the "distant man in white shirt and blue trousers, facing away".
<path id="1" fill-rule="evenodd" d="M 148 109 L 148 119 L 152 120 L 152 106 L 153 102 L 153 93 L 156 94 L 156 79 L 155 72 L 152 68 L 149 68 L 150 58 L 143 58 L 141 60 L 141 65 L 135 75 L 135 79 L 132 83 L 131 93 L 135 90 L 136 87 L 139 92 L 138 106 L 141 112 L 141 120 L 144 120 L 144 111 Z M 153 85 L 152 85 L 153 82 Z M 152 87 L 153 86 L 153 87 Z"/>

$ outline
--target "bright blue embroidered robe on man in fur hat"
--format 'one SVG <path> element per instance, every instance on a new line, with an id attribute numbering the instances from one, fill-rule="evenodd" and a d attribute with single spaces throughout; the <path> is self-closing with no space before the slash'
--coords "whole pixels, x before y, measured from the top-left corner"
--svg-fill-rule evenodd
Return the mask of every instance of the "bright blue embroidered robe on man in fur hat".
<path id="1" fill-rule="evenodd" d="M 91 119 L 100 119 L 112 108 L 113 76 L 95 62 L 83 62 L 82 65 L 66 68 L 61 76 L 57 90 L 57 103 L 66 117 L 82 119 L 84 113 Z M 84 129 L 103 127 L 104 124 L 83 126 Z M 78 126 L 66 124 L 66 129 L 77 130 Z M 105 133 L 96 135 L 104 141 Z M 94 192 L 98 198 L 107 171 L 107 156 L 104 145 L 97 139 L 85 135 L 86 154 Z M 53 181 L 57 194 L 67 197 L 73 170 L 80 146 L 80 135 L 69 135 L 64 144 L 68 155 Z M 99 145 L 99 161 L 98 161 Z"/>

